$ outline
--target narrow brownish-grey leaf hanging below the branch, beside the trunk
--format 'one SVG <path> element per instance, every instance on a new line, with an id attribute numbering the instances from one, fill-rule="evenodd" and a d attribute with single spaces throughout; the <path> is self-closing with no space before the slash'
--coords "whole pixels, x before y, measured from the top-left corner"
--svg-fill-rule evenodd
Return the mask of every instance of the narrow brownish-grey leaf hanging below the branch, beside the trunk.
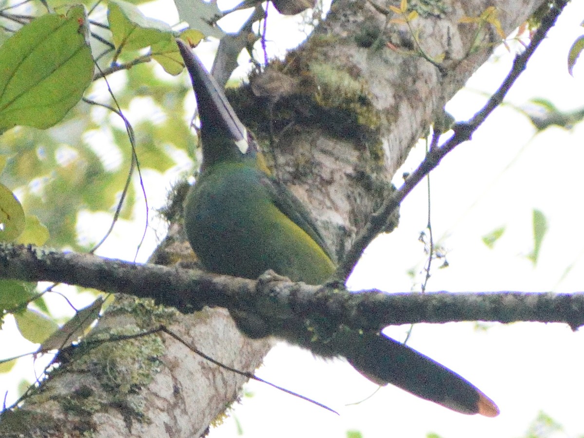
<path id="1" fill-rule="evenodd" d="M 75 342 L 78 338 L 85 335 L 93 321 L 99 316 L 99 311 L 103 305 L 103 298 L 98 297 L 92 304 L 77 311 L 75 316 L 49 336 L 43 345 L 39 347 L 37 353 L 45 353 L 50 350 L 61 349 Z"/>

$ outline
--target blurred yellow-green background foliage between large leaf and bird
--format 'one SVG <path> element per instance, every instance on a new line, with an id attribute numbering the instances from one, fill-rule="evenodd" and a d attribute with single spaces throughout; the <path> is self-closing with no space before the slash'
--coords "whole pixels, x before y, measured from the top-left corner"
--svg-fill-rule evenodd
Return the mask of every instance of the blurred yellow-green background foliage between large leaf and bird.
<path id="1" fill-rule="evenodd" d="M 156 121 L 144 119 L 134 125 L 136 153 L 142 168 L 164 172 L 176 164 L 169 153 L 172 148 L 193 155 L 196 138 L 182 117 L 189 88 L 156 77 L 154 69 L 142 64 L 117 72 L 117 77 L 127 76 L 127 86 L 115 96 L 123 113 L 136 98 L 152 100 L 158 112 Z M 93 99 L 108 105 L 112 100 L 107 94 Z M 79 210 L 112 212 L 116 208 L 131 161 L 128 135 L 116 118 L 116 114 L 80 102 L 53 128 L 16 127 L 0 137 L 0 156 L 6 158 L 0 180 L 19 194 L 27 214 L 36 215 L 46 225 L 48 245 L 88 249 L 77 242 Z M 113 138 L 114 143 L 93 144 L 96 137 Z M 132 185 L 129 190 L 134 190 Z M 124 218 L 131 214 L 131 200 L 135 199 L 133 193 L 128 195 Z"/>

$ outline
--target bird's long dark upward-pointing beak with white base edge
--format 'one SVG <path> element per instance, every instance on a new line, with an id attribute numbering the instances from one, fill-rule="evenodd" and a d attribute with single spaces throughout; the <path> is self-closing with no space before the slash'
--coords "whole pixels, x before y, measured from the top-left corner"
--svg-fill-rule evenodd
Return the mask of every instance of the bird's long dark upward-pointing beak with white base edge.
<path id="1" fill-rule="evenodd" d="M 223 135 L 235 142 L 239 151 L 248 151 L 248 133 L 243 123 L 235 114 L 225 93 L 215 79 L 207 72 L 199 58 L 182 40 L 177 39 L 180 55 L 193 82 L 197 107 L 201 119 L 201 137 L 203 144 L 206 135 Z"/>

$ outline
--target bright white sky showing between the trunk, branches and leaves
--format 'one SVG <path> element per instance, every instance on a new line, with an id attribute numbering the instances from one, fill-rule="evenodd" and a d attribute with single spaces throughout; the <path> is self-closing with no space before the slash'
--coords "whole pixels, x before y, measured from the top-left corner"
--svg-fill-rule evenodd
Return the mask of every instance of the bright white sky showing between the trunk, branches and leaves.
<path id="1" fill-rule="evenodd" d="M 172 6 L 168 10 L 171 12 L 166 20 L 173 24 L 176 18 Z M 159 4 L 143 11 L 161 18 Z M 573 2 L 566 8 L 506 102 L 526 107 L 529 99 L 545 98 L 561 110 L 584 106 L 584 61 L 575 68 L 574 78 L 566 70 L 569 47 L 583 32 L 579 26 L 583 18 L 584 2 Z M 272 47 L 281 49 L 284 44 L 295 44 L 290 36 L 298 29 L 296 18 L 283 18 L 269 26 L 269 30 L 279 30 L 269 35 L 274 41 Z M 209 50 L 200 47 L 201 53 Z M 512 59 L 512 54 L 499 48 L 493 62 L 468 81 L 447 110 L 457 120 L 471 117 L 484 104 L 484 93 L 499 86 Z M 210 65 L 211 58 L 207 62 Z M 186 75 L 182 79 L 187 81 Z M 194 98 L 186 105 L 192 110 Z M 152 115 L 148 109 L 130 110 L 126 114 L 130 120 Z M 552 127 L 536 137 L 533 134 L 534 128 L 525 116 L 510 106 L 502 106 L 471 142 L 460 145 L 432 173 L 434 239 L 447 249 L 450 266 L 433 270 L 429 291 L 582 290 L 584 212 L 578 193 L 583 189 L 584 127 L 580 124 L 570 131 Z M 423 146 L 416 148 L 402 171 L 415 168 L 423 152 Z M 166 191 L 189 166 L 186 162 L 164 176 L 147 174 L 148 200 L 153 209 L 164 204 Z M 395 183 L 401 184 L 399 178 Z M 140 205 L 136 208 L 144 211 Z M 533 208 L 543 211 L 549 227 L 535 267 L 526 258 L 533 249 Z M 90 225 L 81 233 L 91 228 L 91 232 L 103 235 L 109 224 L 103 220 L 105 214 L 85 215 L 85 223 Z M 350 278 L 350 287 L 376 287 L 387 292 L 419 290 L 425 255 L 418 236 L 426 221 L 424 182 L 402 204 L 398 229 L 367 248 Z M 143 215 L 139 226 L 117 224 L 100 255 L 133 259 L 142 226 Z M 157 224 L 151 226 L 154 229 Z M 488 249 L 481 237 L 502 226 L 502 238 L 494 249 Z M 142 260 L 150 253 L 148 248 L 154 248 L 155 234 L 151 230 L 141 252 Z M 158 234 L 161 237 L 160 231 Z M 418 273 L 415 280 L 407 274 L 412 269 Z M 82 307 L 88 300 L 85 294 L 75 298 L 74 304 Z M 62 305 L 62 300 L 55 303 Z M 403 340 L 407 328 L 391 327 L 387 333 Z M 0 345 L 6 356 L 36 349 L 20 338 L 9 320 L 0 331 Z M 561 324 L 481 324 L 480 328 L 474 323 L 419 324 L 413 329 L 409 345 L 481 388 L 499 405 L 500 416 L 486 419 L 460 415 L 394 387 L 384 387 L 355 405 L 369 397 L 376 385 L 342 360 L 314 359 L 310 352 L 279 345 L 268 354 L 258 376 L 331 406 L 340 416 L 252 382 L 246 391 L 253 396 L 244 397 L 230 419 L 213 429 L 210 436 L 233 437 L 241 430 L 244 436 L 258 438 L 343 437 L 347 430 L 360 430 L 364 437 L 421 437 L 428 432 L 449 438 L 521 437 L 539 411 L 564 426 L 564 432 L 551 436 L 584 435 L 581 332 L 574 333 Z M 42 365 L 43 360 L 37 360 L 36 369 L 42 369 Z M 2 393 L 9 391 L 8 404 L 15 396 L 20 376 L 25 375 L 32 376 L 30 359 L 21 360 L 16 373 L 0 374 Z"/>

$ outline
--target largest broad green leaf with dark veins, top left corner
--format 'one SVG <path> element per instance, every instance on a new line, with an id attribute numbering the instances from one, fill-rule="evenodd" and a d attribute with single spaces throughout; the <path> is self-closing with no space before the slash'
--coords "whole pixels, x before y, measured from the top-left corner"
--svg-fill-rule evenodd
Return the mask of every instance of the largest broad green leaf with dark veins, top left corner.
<path id="1" fill-rule="evenodd" d="M 0 47 L 0 133 L 61 121 L 93 79 L 83 6 L 23 26 Z"/>

